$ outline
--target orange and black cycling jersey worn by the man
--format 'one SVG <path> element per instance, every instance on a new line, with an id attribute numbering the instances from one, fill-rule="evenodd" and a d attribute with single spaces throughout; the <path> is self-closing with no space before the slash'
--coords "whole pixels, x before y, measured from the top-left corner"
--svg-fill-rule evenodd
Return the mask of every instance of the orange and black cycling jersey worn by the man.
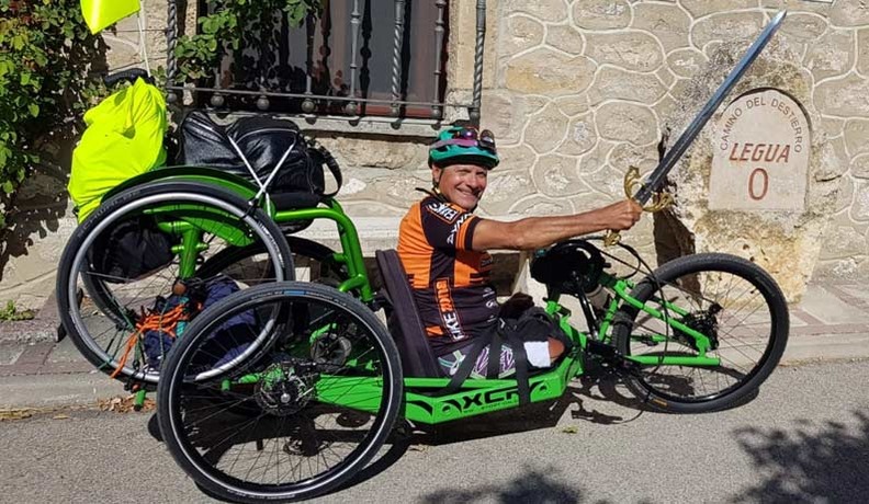
<path id="1" fill-rule="evenodd" d="M 438 355 L 467 344 L 497 320 L 498 302 L 488 285 L 492 256 L 471 249 L 479 220 L 431 196 L 402 219 L 398 255 Z"/>

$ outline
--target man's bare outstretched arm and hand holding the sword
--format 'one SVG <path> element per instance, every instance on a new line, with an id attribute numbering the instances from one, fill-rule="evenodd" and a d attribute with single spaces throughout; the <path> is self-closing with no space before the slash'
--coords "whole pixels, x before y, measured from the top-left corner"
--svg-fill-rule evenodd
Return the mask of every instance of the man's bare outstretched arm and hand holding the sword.
<path id="1" fill-rule="evenodd" d="M 540 249 L 590 232 L 630 229 L 642 211 L 636 202 L 623 201 L 568 216 L 528 217 L 515 222 L 481 219 L 474 229 L 472 247 L 476 251 Z"/>

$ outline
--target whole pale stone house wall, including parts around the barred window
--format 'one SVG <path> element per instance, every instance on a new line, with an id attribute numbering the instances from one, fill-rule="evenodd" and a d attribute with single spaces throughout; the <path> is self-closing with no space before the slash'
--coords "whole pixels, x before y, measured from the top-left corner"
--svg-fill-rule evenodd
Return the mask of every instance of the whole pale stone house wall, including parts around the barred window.
<path id="1" fill-rule="evenodd" d="M 470 96 L 474 4 L 451 2 L 450 100 Z M 783 255 L 805 249 L 798 275 L 787 267 L 775 272 L 781 283 L 797 285 L 794 291 L 810 277 L 869 277 L 869 4 L 861 0 L 489 0 L 487 5 L 483 127 L 495 131 L 504 161 L 492 173 L 479 209 L 483 215 L 575 213 L 624 197 L 627 168 L 653 169 L 664 129 L 672 127 L 678 134 L 693 115 L 690 106 L 703 101 L 698 102 L 696 94 L 702 84 L 714 89 L 714 78 L 722 79 L 732 66 L 733 61 L 716 66 L 716 55 L 738 54 L 786 7 L 790 14 L 770 57 L 765 54 L 736 94 L 752 87 L 783 87 L 804 102 L 819 169 L 810 172 L 811 215 L 788 220 L 802 238 L 791 240 L 789 248 L 765 250 Z M 149 32 L 148 47 L 156 64 L 162 65 L 159 30 L 165 26 L 165 3 L 147 0 L 146 7 L 148 27 L 155 30 Z M 117 35 L 106 36 L 112 68 L 137 59 L 135 34 L 127 31 L 133 23 L 125 21 Z M 785 64 L 803 92 L 774 82 L 772 67 Z M 726 102 L 720 112 L 725 107 Z M 461 117 L 463 112 L 448 114 Z M 414 187 L 429 183 L 425 145 L 435 129 L 417 125 L 384 131 L 375 126 L 334 128 L 317 123 L 312 129 L 345 167 L 340 201 L 350 215 L 392 219 L 397 227 L 419 196 Z M 711 138 L 708 130 L 698 141 L 709 144 Z M 708 171 L 701 159 L 689 153 L 677 169 L 676 182 Z M 703 180 L 697 185 L 698 198 L 703 197 Z M 34 177 L 27 191 L 35 198 L 34 218 L 42 224 L 23 227 L 18 245 L 8 248 L 14 252 L 3 266 L 0 287 L 5 297 L 25 306 L 38 308 L 50 293 L 63 243 L 75 227 L 68 214 L 59 216 L 68 210 L 63 183 L 63 174 Z M 44 217 L 41 208 L 53 210 Z M 692 210 L 682 209 L 676 215 L 685 226 L 682 241 L 696 250 L 725 244 L 703 237 L 734 222 L 726 214 L 716 217 L 721 226 L 703 221 L 698 227 L 703 218 L 684 219 Z M 662 222 L 644 217 L 625 241 L 654 260 L 654 230 Z M 755 249 L 734 252 L 756 255 L 753 252 L 764 239 L 757 236 L 752 239 Z"/>

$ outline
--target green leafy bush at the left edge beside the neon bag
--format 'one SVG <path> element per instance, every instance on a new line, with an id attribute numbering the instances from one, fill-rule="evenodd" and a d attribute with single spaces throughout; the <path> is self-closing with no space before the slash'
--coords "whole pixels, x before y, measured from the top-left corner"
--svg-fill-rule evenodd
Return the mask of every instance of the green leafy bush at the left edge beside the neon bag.
<path id="1" fill-rule="evenodd" d="M 102 41 L 79 11 L 79 0 L 0 0 L 0 229 L 42 144 L 102 92 L 86 79 Z"/>

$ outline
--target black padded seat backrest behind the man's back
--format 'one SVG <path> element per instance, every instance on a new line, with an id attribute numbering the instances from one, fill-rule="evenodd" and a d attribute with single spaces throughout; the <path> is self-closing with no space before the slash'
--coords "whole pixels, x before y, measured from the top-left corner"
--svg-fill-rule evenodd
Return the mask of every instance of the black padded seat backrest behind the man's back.
<path id="1" fill-rule="evenodd" d="M 431 352 L 426 328 L 419 318 L 414 291 L 407 282 L 407 273 L 395 250 L 379 250 L 374 253 L 383 285 L 392 303 L 387 311 L 390 332 L 398 346 L 402 369 L 405 376 L 417 378 L 442 377 L 435 354 Z"/>

